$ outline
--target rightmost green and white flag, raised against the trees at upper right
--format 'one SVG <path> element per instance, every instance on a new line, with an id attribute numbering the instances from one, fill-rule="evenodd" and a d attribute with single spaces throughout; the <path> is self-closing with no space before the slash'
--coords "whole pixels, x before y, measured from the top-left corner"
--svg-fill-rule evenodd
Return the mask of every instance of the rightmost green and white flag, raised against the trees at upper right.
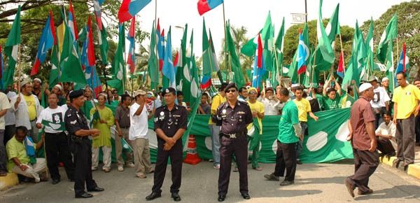
<path id="1" fill-rule="evenodd" d="M 382 33 L 381 40 L 379 41 L 377 50 L 377 59 L 379 62 L 384 63 L 386 59 L 386 53 L 388 51 L 388 45 L 393 38 L 397 38 L 398 26 L 397 26 L 397 14 L 393 15 L 389 20 L 388 25 Z M 392 46 L 391 46 L 392 47 Z"/>

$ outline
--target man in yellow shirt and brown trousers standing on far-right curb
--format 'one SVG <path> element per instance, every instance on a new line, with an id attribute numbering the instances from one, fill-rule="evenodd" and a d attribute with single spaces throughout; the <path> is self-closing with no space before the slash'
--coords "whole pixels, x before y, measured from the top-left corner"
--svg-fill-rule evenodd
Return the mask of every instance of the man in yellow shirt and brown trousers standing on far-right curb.
<path id="1" fill-rule="evenodd" d="M 396 75 L 400 85 L 394 90 L 392 102 L 394 102 L 393 123 L 397 125 L 395 139 L 397 140 L 397 158 L 394 163 L 404 162 L 404 167 L 414 163 L 414 117 L 419 113 L 420 90 L 414 85 L 408 84 L 407 74 L 400 71 Z"/>

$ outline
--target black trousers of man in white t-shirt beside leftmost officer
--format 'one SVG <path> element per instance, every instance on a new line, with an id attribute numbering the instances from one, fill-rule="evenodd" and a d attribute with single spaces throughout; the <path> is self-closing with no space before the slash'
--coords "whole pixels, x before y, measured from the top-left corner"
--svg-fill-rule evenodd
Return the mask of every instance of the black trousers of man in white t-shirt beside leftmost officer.
<path id="1" fill-rule="evenodd" d="M 60 179 L 58 164 L 61 160 L 66 170 L 67 178 L 74 179 L 74 165 L 69 151 L 69 144 L 65 132 L 45 133 L 45 153 L 51 179 Z"/>

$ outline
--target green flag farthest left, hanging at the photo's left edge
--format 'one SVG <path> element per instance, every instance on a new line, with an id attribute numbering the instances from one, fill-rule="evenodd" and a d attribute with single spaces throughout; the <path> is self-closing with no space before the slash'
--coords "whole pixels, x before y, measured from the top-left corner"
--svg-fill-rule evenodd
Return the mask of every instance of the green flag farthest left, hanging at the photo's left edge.
<path id="1" fill-rule="evenodd" d="M 6 89 L 8 85 L 13 84 L 13 76 L 15 75 L 15 66 L 18 62 L 18 50 L 20 45 L 20 6 L 15 15 L 15 20 L 13 21 L 12 28 L 7 37 L 6 46 L 4 47 L 4 52 L 8 56 L 8 67 L 4 71 L 3 76 L 3 90 Z"/>

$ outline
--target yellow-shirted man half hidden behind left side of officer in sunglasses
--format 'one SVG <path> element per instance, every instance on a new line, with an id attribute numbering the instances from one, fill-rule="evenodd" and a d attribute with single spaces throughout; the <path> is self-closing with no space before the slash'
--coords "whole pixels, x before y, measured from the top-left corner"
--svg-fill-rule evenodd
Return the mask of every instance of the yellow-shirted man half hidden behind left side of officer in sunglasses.
<path id="1" fill-rule="evenodd" d="M 221 87 L 218 89 L 219 92 L 216 96 L 213 97 L 213 101 L 211 101 L 211 115 L 216 115 L 217 107 L 221 105 L 223 102 L 226 102 L 225 98 L 225 88 L 228 86 L 228 83 L 222 83 Z M 213 167 L 215 169 L 221 168 L 221 137 L 219 136 L 219 132 L 221 132 L 221 127 L 217 126 L 209 119 L 209 128 L 210 128 L 210 135 L 211 135 L 211 155 L 213 155 Z"/>

